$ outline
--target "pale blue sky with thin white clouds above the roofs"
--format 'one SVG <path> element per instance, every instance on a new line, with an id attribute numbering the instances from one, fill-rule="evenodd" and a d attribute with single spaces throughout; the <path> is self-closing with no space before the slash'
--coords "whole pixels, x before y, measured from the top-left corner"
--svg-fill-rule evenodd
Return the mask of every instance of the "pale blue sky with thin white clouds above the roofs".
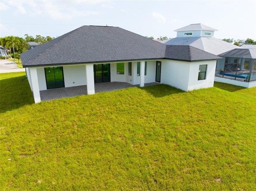
<path id="1" fill-rule="evenodd" d="M 0 37 L 57 37 L 83 25 L 176 37 L 174 30 L 201 23 L 219 39 L 256 40 L 255 10 L 255 0 L 0 0 Z"/>

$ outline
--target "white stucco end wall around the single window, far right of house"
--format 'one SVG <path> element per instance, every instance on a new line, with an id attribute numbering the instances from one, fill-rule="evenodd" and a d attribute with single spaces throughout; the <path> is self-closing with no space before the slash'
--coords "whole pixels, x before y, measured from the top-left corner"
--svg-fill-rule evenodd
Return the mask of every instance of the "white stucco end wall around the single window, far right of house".
<path id="1" fill-rule="evenodd" d="M 207 65 L 205 80 L 198 80 L 199 65 Z M 199 61 L 199 62 L 190 63 L 188 91 L 213 87 L 215 69 L 216 69 L 216 60 Z"/>

